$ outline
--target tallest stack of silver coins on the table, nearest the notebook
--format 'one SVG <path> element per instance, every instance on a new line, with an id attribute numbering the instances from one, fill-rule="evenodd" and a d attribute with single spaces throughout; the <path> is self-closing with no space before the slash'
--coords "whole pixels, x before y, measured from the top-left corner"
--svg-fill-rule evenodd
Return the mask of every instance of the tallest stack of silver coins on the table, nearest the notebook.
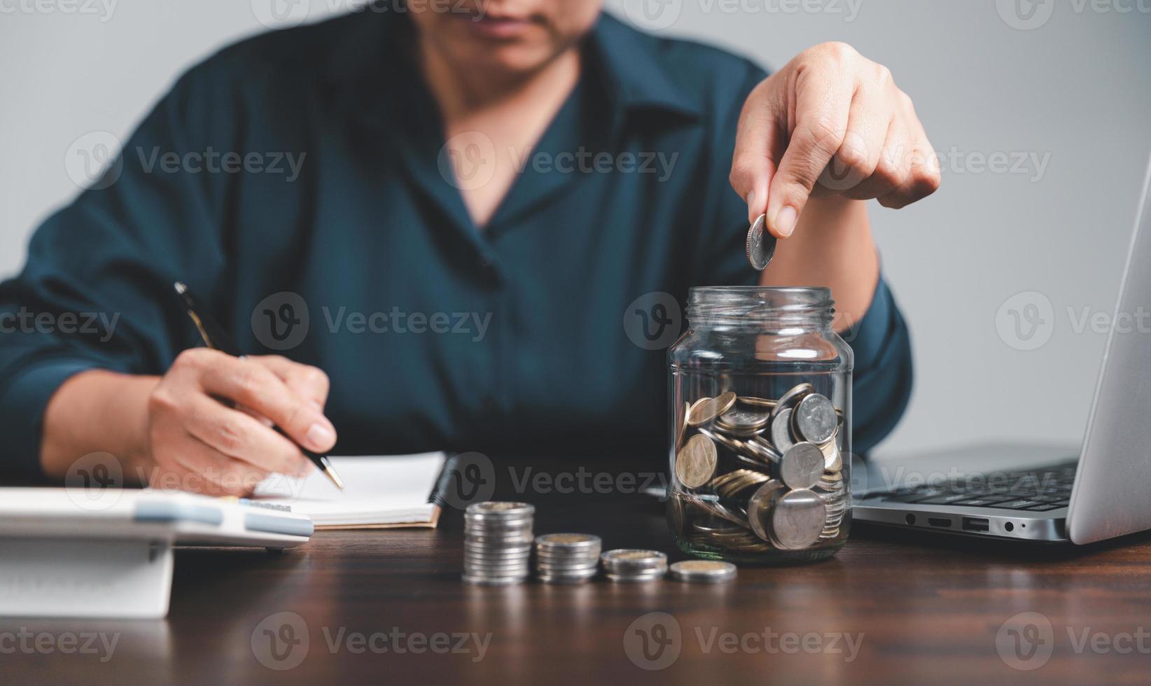
<path id="1" fill-rule="evenodd" d="M 464 511 L 464 581 L 486 586 L 520 584 L 532 557 L 527 503 L 473 503 Z"/>

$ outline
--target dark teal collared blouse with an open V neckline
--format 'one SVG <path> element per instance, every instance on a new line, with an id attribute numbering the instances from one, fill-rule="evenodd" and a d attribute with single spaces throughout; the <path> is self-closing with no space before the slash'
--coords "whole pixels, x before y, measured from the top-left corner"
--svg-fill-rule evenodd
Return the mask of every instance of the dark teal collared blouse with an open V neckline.
<path id="1" fill-rule="evenodd" d="M 648 294 L 683 304 L 692 285 L 756 282 L 727 173 L 764 73 L 604 15 L 582 81 L 481 231 L 456 184 L 485 151 L 441 152 L 411 31 L 361 13 L 223 49 L 37 230 L 0 284 L 6 472 L 38 473 L 44 407 L 71 374 L 161 374 L 198 344 L 176 280 L 242 349 L 328 372 L 335 452 L 663 464 L 665 350 L 624 320 Z M 681 326 L 678 307 L 654 313 Z M 859 451 L 912 384 L 882 282 L 851 343 Z"/>

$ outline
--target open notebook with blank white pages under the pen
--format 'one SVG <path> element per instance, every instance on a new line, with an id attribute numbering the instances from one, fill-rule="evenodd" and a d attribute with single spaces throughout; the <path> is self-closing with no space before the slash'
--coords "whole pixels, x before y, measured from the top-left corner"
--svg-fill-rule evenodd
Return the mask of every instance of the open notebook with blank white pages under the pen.
<path id="1" fill-rule="evenodd" d="M 330 457 L 346 489 L 341 493 L 319 471 L 306 479 L 273 474 L 256 498 L 290 505 L 315 528 L 434 527 L 440 519 L 442 480 L 450 475 L 443 452 Z"/>

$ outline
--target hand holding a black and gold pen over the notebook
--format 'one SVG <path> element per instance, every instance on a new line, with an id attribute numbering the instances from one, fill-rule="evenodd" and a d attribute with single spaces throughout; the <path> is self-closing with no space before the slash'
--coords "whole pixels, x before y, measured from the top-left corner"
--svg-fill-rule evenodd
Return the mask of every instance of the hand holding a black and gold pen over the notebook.
<path id="1" fill-rule="evenodd" d="M 296 443 L 315 452 L 336 443 L 327 397 L 328 378 L 317 367 L 186 350 L 147 398 L 148 486 L 247 495 L 273 472 L 303 477 L 314 467 Z"/>

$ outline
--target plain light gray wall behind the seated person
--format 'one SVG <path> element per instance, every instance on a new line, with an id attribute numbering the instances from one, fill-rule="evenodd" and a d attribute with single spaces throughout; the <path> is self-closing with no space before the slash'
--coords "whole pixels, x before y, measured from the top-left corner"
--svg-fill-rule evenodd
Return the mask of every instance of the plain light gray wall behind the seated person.
<path id="1" fill-rule="evenodd" d="M 0 5 L 0 275 L 76 195 L 64 157 L 77 138 L 125 137 L 183 68 L 274 23 L 273 0 L 87 1 Z M 1151 0 L 608 6 L 765 66 L 844 40 L 891 67 L 943 155 L 944 185 L 872 212 L 917 366 L 885 449 L 1078 440 L 1105 341 L 1081 318 L 1114 306 L 1151 153 Z M 284 7 L 289 21 L 313 21 L 351 3 Z"/>

